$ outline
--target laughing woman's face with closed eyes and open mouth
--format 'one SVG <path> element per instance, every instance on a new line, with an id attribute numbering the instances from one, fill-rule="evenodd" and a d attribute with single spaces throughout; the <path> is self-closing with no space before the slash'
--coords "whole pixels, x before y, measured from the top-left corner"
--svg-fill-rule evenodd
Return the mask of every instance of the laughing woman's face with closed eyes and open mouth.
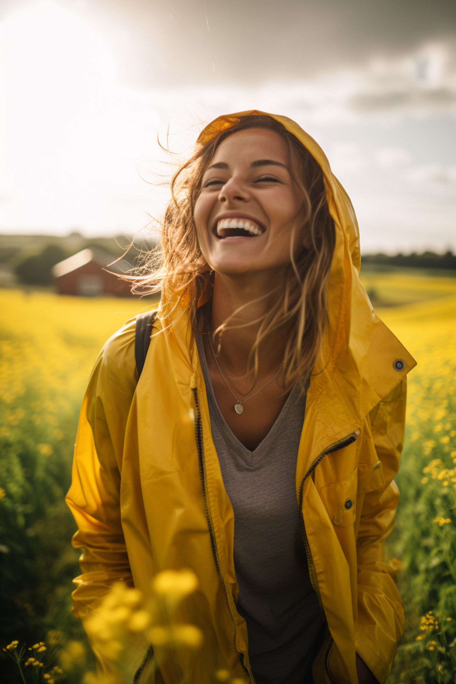
<path id="1" fill-rule="evenodd" d="M 202 179 L 195 224 L 204 258 L 227 276 L 282 271 L 308 246 L 295 163 L 276 131 L 233 133 L 217 148 Z"/>

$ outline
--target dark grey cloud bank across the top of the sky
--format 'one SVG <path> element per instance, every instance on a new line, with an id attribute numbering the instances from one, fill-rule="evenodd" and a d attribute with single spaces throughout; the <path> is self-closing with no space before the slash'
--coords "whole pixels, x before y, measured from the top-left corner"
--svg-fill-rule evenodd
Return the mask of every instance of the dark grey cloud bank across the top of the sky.
<path id="1" fill-rule="evenodd" d="M 58 3 L 109 35 L 122 81 L 148 90 L 293 83 L 375 56 L 394 60 L 456 34 L 454 0 Z M 26 4 L 2 0 L 0 16 Z"/>

